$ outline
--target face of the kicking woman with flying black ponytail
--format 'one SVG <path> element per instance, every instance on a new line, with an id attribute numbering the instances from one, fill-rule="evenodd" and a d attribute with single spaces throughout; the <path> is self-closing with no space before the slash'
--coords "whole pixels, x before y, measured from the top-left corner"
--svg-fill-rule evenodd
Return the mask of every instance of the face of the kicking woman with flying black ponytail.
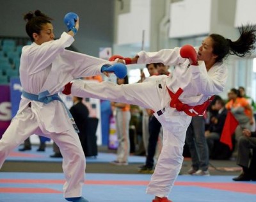
<path id="1" fill-rule="evenodd" d="M 205 63 L 216 60 L 217 56 L 212 53 L 213 40 L 210 36 L 204 39 L 202 45 L 199 47 L 197 59 L 198 61 L 205 61 Z"/>

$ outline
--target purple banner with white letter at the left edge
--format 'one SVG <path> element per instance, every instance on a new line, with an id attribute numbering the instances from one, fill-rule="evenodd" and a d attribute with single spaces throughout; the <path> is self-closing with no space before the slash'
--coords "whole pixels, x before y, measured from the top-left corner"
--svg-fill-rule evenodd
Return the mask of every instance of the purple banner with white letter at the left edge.
<path id="1" fill-rule="evenodd" d="M 10 86 L 0 85 L 0 139 L 11 122 Z"/>

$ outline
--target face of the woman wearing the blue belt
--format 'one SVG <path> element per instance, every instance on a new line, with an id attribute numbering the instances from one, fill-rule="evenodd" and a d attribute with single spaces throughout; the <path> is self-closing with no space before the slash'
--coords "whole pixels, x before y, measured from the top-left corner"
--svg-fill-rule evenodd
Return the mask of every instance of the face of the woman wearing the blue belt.
<path id="1" fill-rule="evenodd" d="M 53 27 L 51 23 L 44 24 L 40 34 L 33 33 L 35 43 L 41 45 L 42 43 L 54 40 Z"/>

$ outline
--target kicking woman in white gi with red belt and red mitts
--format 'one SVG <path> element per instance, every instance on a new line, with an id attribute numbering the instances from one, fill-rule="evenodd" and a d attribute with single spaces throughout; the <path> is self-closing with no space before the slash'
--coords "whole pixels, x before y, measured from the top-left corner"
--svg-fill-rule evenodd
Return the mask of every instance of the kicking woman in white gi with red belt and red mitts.
<path id="1" fill-rule="evenodd" d="M 85 84 L 74 81 L 66 85 L 65 93 L 78 97 L 93 97 L 114 102 L 136 104 L 155 111 L 163 127 L 163 148 L 147 187 L 154 194 L 153 202 L 170 202 L 168 194 L 182 166 L 182 152 L 191 116 L 202 116 L 212 95 L 224 90 L 227 80 L 225 56 L 244 56 L 255 49 L 255 27 L 240 29 L 240 43 L 223 36 L 207 36 L 198 52 L 190 45 L 158 52 L 139 52 L 135 58 L 113 56 L 111 60 L 131 63 L 163 63 L 175 65 L 172 75 L 150 77 L 147 82 L 118 86 L 113 82 Z"/>

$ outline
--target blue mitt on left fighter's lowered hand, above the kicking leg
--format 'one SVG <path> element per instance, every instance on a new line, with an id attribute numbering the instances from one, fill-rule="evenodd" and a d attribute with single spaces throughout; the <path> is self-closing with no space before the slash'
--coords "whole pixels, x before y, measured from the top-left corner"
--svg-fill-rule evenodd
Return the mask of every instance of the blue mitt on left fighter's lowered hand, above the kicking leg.
<path id="1" fill-rule="evenodd" d="M 115 63 L 114 65 L 103 65 L 101 72 L 114 72 L 116 77 L 124 79 L 127 75 L 127 67 L 123 63 Z"/>

